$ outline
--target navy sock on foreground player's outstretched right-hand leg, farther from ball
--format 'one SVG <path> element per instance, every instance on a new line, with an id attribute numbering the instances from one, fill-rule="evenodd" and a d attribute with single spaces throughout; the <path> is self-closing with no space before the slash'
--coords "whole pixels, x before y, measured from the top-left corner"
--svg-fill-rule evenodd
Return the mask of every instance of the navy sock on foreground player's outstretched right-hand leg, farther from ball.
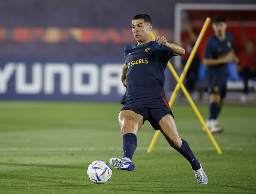
<path id="1" fill-rule="evenodd" d="M 196 157 L 194 156 L 193 152 L 191 151 L 187 141 L 182 140 L 182 145 L 180 147 L 180 149 L 177 149 L 178 152 L 180 152 L 180 154 L 182 154 L 187 160 L 188 162 L 190 162 L 191 167 L 193 170 L 198 170 L 200 169 L 200 163 L 198 162 L 198 160 L 196 160 Z"/>

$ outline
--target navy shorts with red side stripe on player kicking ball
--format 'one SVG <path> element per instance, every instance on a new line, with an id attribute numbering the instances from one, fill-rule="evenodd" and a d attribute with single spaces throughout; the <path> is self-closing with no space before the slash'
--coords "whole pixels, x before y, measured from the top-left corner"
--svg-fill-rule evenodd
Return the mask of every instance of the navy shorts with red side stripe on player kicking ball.
<path id="1" fill-rule="evenodd" d="M 145 120 L 148 120 L 155 130 L 159 130 L 157 125 L 165 115 L 171 114 L 173 117 L 171 108 L 164 97 L 127 100 L 121 111 L 123 110 L 140 114 L 143 117 L 143 124 Z"/>

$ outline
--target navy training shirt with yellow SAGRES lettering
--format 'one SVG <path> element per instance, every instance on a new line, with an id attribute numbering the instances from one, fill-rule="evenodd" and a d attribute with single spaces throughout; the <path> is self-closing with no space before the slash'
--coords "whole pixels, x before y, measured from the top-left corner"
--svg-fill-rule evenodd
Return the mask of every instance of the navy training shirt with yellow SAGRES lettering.
<path id="1" fill-rule="evenodd" d="M 165 97 L 164 70 L 172 56 L 177 55 L 156 41 L 126 47 L 126 93 L 122 102 L 137 98 Z"/>

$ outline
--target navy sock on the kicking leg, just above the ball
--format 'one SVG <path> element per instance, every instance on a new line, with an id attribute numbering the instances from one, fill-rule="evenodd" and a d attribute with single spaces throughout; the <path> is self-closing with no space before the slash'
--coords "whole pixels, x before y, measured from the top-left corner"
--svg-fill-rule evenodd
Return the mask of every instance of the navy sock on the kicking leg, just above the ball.
<path id="1" fill-rule="evenodd" d="M 132 156 L 137 147 L 137 137 L 134 133 L 126 133 L 123 135 L 123 158 L 130 158 L 132 160 Z"/>

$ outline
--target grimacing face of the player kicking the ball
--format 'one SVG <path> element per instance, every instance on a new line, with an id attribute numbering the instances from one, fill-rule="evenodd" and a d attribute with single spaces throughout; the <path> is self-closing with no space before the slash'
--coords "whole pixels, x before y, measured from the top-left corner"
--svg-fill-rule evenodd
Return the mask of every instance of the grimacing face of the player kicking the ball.
<path id="1" fill-rule="evenodd" d="M 132 20 L 132 33 L 133 37 L 138 42 L 144 42 L 150 37 L 150 30 L 152 25 L 145 22 L 144 19 L 133 19 Z"/>

